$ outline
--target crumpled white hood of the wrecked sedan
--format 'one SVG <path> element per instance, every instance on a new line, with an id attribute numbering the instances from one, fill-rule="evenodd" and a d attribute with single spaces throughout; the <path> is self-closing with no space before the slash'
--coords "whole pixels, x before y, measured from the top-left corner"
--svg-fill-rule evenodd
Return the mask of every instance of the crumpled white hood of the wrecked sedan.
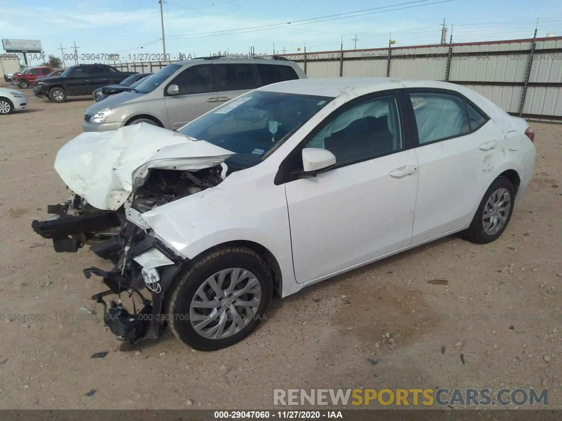
<path id="1" fill-rule="evenodd" d="M 84 132 L 62 147 L 55 170 L 70 190 L 98 209 L 115 211 L 150 168 L 197 171 L 234 153 L 146 123 Z"/>

